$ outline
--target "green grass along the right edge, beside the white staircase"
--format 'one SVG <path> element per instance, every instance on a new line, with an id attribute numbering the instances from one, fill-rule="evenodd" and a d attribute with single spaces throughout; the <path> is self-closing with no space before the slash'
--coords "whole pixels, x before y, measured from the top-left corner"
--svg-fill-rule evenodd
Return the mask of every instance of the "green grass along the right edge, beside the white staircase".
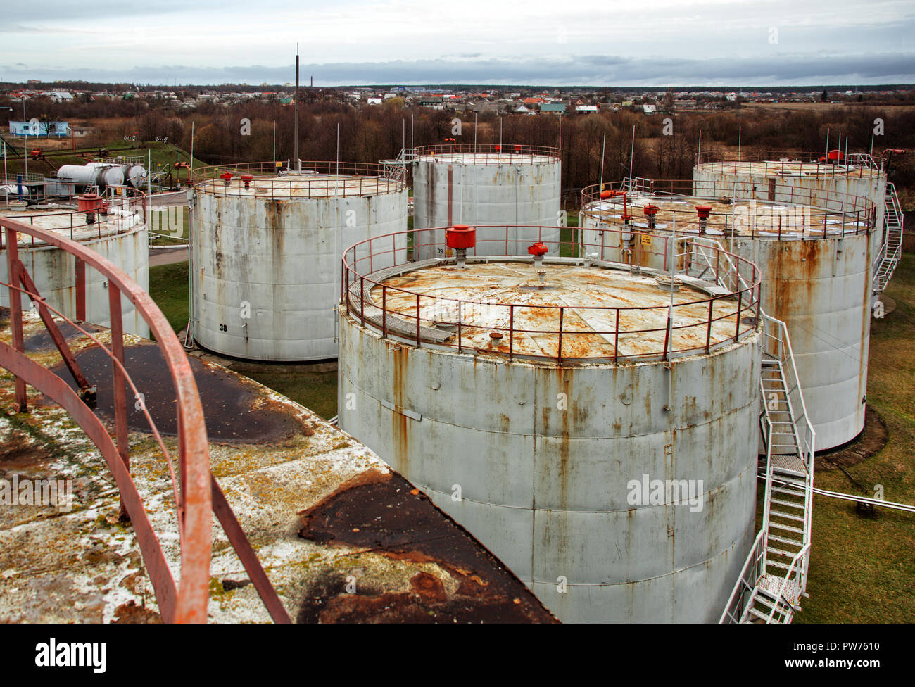
<path id="1" fill-rule="evenodd" d="M 887 423 L 888 443 L 848 472 L 871 488 L 883 485 L 887 500 L 915 503 L 915 254 L 903 256 L 887 295 L 898 306 L 871 324 L 867 403 Z M 858 493 L 839 470 L 815 479 L 819 488 Z M 877 509 L 871 520 L 856 513 L 853 501 L 814 497 L 810 598 L 795 622 L 912 622 L 913 552 L 915 515 Z"/>

